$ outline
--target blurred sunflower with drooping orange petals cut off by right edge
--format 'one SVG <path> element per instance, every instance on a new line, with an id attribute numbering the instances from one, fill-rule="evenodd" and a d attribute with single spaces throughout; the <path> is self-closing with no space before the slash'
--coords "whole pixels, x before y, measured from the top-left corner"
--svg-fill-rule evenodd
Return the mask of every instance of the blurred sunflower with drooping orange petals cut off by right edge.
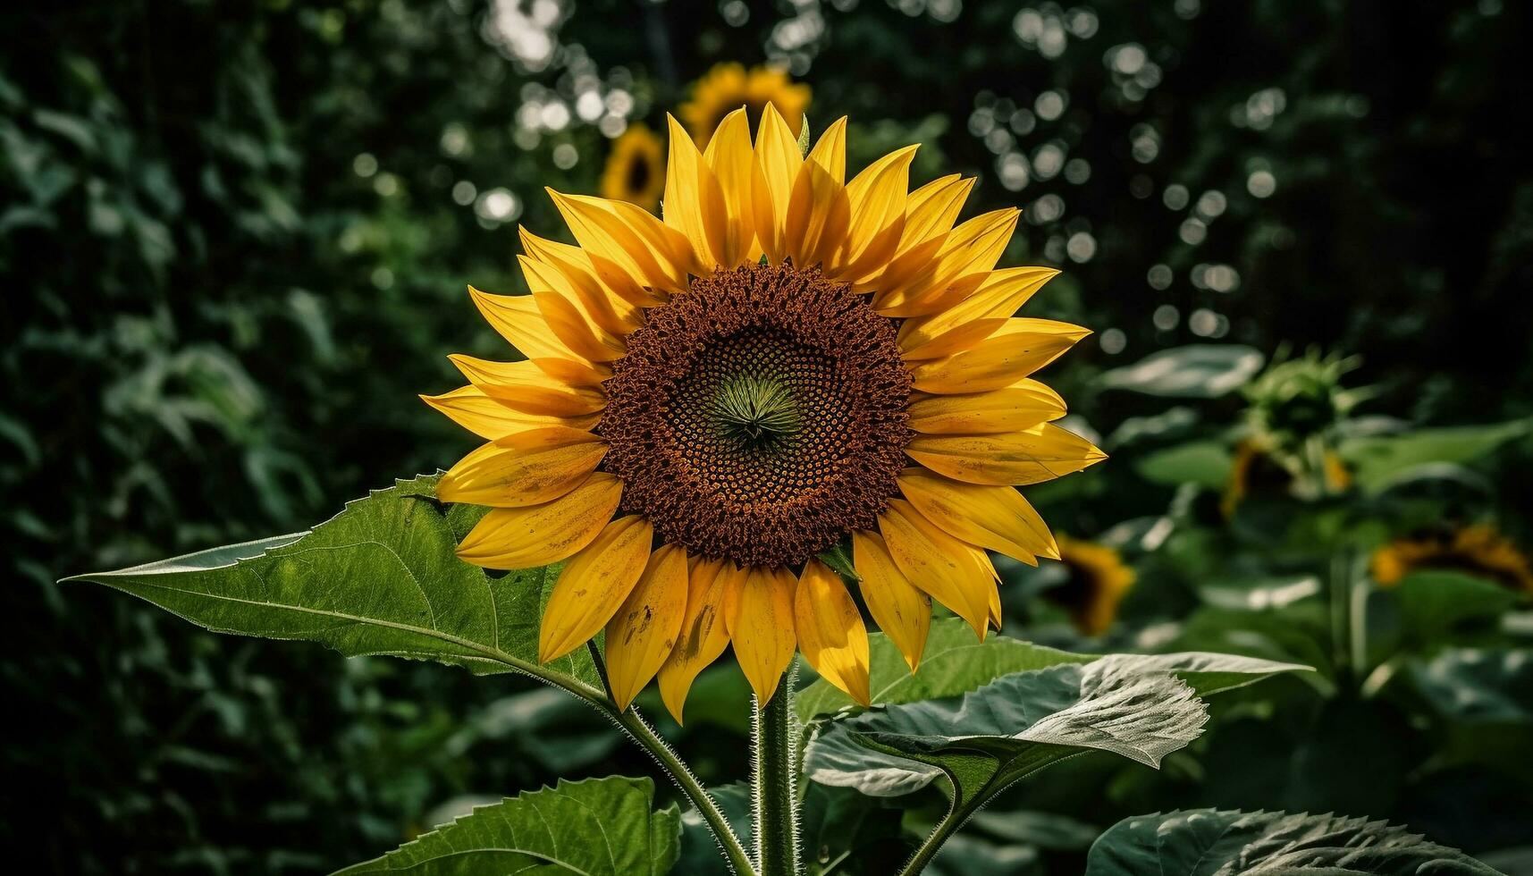
<path id="1" fill-rule="evenodd" d="M 1380 586 L 1392 588 L 1416 569 L 1470 572 L 1533 594 L 1533 566 L 1527 555 L 1487 525 L 1421 531 L 1374 551 L 1374 580 Z"/>

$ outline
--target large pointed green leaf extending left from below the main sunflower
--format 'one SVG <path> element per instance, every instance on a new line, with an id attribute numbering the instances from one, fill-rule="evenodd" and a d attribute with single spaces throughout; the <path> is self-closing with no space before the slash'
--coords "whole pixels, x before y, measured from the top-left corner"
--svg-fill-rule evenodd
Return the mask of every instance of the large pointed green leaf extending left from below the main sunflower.
<path id="1" fill-rule="evenodd" d="M 346 505 L 311 532 L 64 578 L 133 594 L 213 632 L 296 638 L 346 657 L 391 655 L 599 684 L 586 650 L 540 666 L 538 618 L 553 568 L 501 577 L 458 560 L 483 509 L 440 505 L 435 476 Z"/>

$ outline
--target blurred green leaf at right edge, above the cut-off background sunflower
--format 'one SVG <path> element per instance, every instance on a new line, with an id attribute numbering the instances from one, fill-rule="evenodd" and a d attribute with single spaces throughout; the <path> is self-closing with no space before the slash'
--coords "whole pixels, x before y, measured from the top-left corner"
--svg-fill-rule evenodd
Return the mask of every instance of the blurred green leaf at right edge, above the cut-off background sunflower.
<path id="1" fill-rule="evenodd" d="M 1472 462 L 1502 443 L 1524 437 L 1533 419 L 1475 426 L 1415 430 L 1390 436 L 1364 436 L 1343 442 L 1337 453 L 1352 477 L 1367 492 L 1381 492 L 1409 480 L 1412 473 L 1443 463 Z"/>

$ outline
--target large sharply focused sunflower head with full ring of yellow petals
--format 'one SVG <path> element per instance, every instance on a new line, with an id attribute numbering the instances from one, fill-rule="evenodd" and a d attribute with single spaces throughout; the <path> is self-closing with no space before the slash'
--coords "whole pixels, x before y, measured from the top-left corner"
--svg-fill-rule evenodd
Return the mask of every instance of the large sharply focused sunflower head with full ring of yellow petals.
<path id="1" fill-rule="evenodd" d="M 760 703 L 794 649 L 868 703 L 868 634 L 819 557 L 914 667 L 931 600 L 1000 623 L 986 549 L 1036 565 L 1049 528 L 1013 485 L 1104 459 L 1030 374 L 1087 330 L 1012 318 L 1055 270 L 995 270 L 1015 209 L 955 227 L 972 179 L 908 192 L 915 147 L 845 183 L 846 120 L 808 156 L 766 107 L 707 152 L 670 120 L 664 219 L 550 192 L 578 245 L 521 232 L 530 296 L 483 316 L 527 361 L 452 356 L 426 397 L 489 443 L 440 482 L 491 511 L 469 563 L 564 561 L 538 658 L 606 631 L 613 700 L 656 675 L 681 720 L 733 644 Z"/>

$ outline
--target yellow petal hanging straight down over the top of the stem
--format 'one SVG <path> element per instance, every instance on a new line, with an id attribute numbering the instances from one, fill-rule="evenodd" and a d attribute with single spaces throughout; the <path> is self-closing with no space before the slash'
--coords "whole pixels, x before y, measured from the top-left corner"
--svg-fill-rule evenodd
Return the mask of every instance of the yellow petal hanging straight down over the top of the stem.
<path id="1" fill-rule="evenodd" d="M 777 692 L 777 681 L 797 647 L 793 627 L 793 592 L 797 581 L 788 569 L 751 568 L 745 581 L 730 591 L 725 620 L 734 658 L 763 706 Z"/>

